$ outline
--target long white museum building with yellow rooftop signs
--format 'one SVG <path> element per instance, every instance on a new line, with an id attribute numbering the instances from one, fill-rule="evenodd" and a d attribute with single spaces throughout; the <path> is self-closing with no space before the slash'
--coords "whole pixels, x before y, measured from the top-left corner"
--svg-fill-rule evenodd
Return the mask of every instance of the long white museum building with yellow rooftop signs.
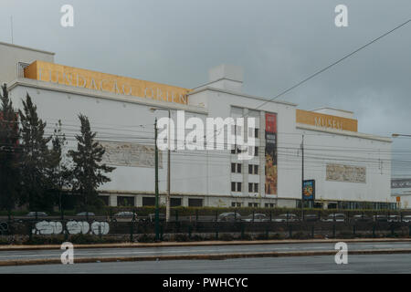
<path id="1" fill-rule="evenodd" d="M 245 94 L 242 68 L 212 68 L 208 83 L 182 89 L 58 65 L 53 53 L 26 47 L 1 43 L 0 55 L 7 62 L 0 68 L 1 81 L 15 106 L 21 107 L 28 93 L 49 134 L 61 120 L 67 150 L 76 147 L 79 113 L 89 117 L 106 149 L 104 162 L 116 167 L 111 182 L 100 188 L 109 205 L 155 202 L 154 120 L 170 112 L 174 131 L 184 128 L 184 136 L 194 129 L 186 124 L 190 118 L 204 124 L 207 118 L 255 120 L 255 129 L 247 121 L 234 128 L 255 139 L 249 160 L 239 159 L 237 146 L 171 151 L 172 206 L 296 207 L 302 193 L 304 203 L 321 208 L 395 206 L 389 138 L 358 132 L 351 111 L 300 110 L 290 102 Z M 159 188 L 165 203 L 167 151 L 160 151 Z"/>

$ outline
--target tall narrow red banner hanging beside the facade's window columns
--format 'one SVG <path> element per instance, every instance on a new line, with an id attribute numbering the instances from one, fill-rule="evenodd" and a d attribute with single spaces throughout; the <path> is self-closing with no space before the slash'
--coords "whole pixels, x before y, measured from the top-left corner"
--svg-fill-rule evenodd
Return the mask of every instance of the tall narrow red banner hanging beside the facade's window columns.
<path id="1" fill-rule="evenodd" d="M 277 194 L 277 114 L 266 113 L 266 194 Z"/>

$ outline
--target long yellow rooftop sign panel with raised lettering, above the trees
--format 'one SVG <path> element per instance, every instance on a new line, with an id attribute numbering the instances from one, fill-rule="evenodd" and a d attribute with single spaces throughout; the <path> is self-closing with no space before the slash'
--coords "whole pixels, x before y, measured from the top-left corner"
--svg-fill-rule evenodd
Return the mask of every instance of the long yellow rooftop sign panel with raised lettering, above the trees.
<path id="1" fill-rule="evenodd" d="M 182 104 L 187 104 L 187 93 L 190 91 L 190 89 L 151 81 L 126 78 L 38 60 L 25 68 L 25 78 Z"/>

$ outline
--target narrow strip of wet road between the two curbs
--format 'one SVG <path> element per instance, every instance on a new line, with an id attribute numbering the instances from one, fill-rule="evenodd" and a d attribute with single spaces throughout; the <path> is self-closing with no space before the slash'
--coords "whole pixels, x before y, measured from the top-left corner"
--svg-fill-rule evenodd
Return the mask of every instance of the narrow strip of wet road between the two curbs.
<path id="1" fill-rule="evenodd" d="M 411 249 L 411 242 L 371 242 L 349 243 L 348 250 L 364 249 Z M 204 246 L 169 246 L 169 247 L 134 247 L 134 248 L 88 248 L 75 249 L 74 257 L 117 257 L 136 255 L 207 255 L 255 252 L 293 252 L 293 251 L 330 251 L 332 243 L 315 244 L 275 244 L 275 245 L 204 245 Z M 0 251 L 0 261 L 23 259 L 58 259 L 62 251 L 27 250 Z"/>

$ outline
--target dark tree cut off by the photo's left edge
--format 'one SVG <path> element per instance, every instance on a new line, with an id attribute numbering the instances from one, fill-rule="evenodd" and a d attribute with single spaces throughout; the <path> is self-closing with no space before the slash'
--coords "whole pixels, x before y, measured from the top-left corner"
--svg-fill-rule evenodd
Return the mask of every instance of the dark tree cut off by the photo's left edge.
<path id="1" fill-rule="evenodd" d="M 0 209 L 9 212 L 18 199 L 20 184 L 18 117 L 5 85 L 0 94 Z"/>

